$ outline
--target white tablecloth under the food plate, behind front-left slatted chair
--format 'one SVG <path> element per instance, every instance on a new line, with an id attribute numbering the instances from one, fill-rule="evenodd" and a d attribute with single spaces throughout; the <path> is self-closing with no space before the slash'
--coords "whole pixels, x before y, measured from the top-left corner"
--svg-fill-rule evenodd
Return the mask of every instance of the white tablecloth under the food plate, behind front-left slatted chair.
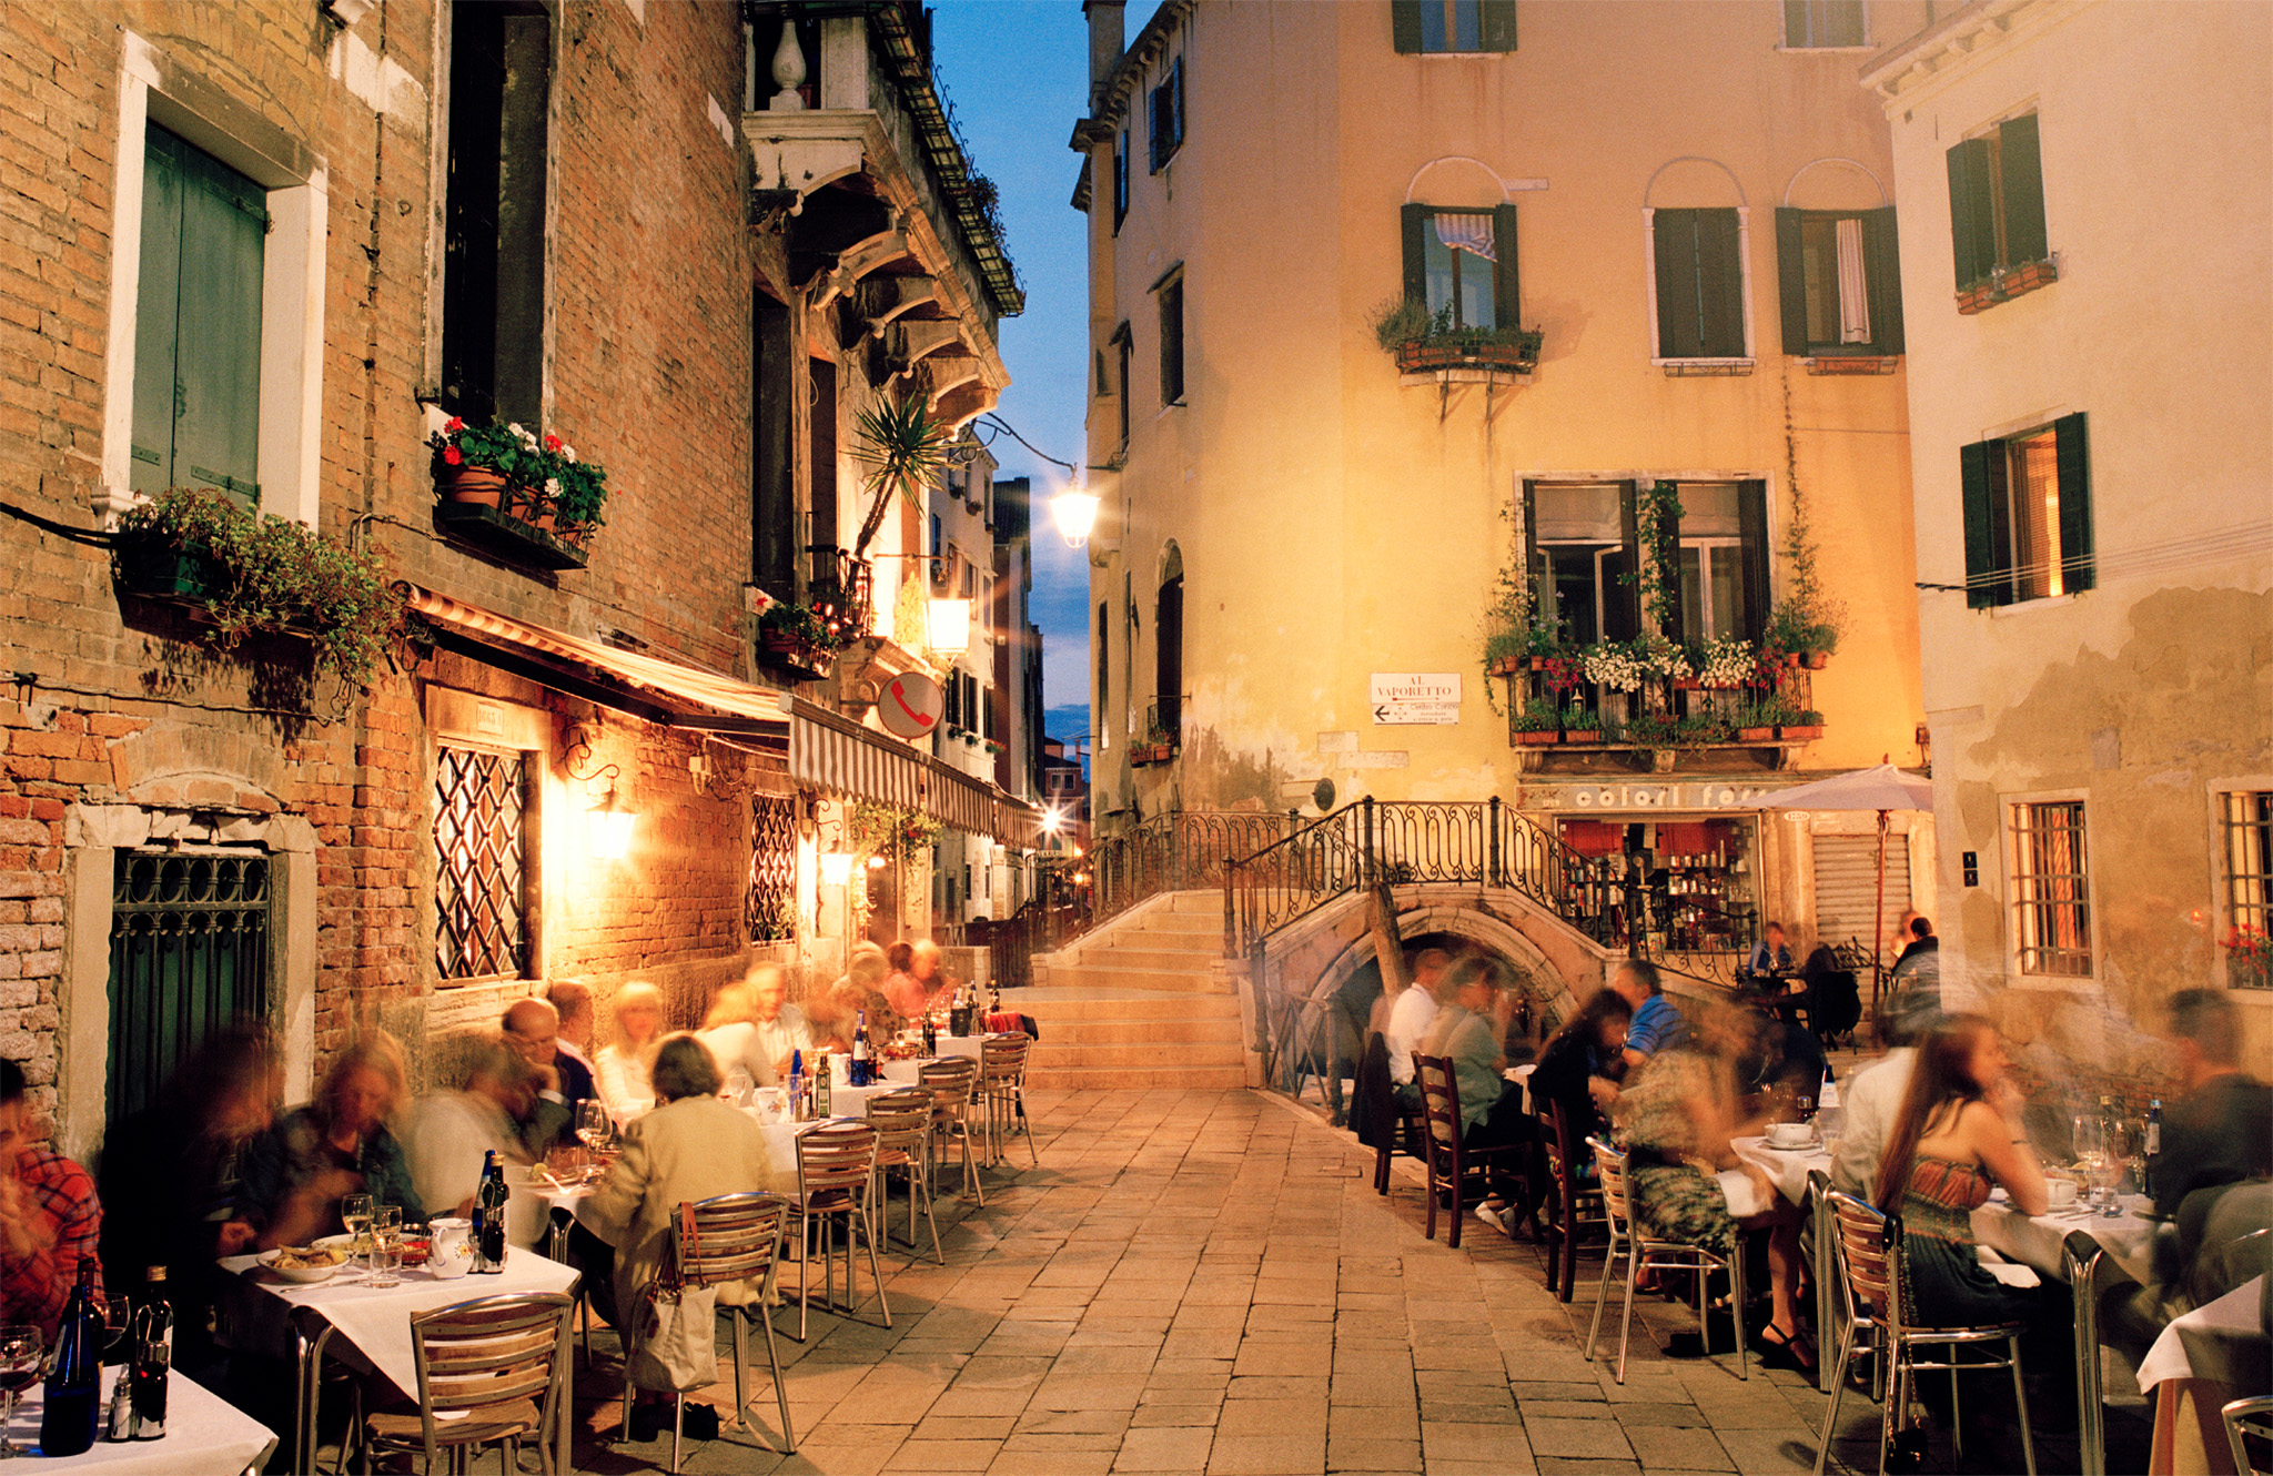
<path id="1" fill-rule="evenodd" d="M 536 1251 L 507 1246 L 505 1271 L 498 1276 L 459 1276 L 441 1280 L 423 1267 L 402 1271 L 400 1285 L 373 1287 L 355 1269 L 343 1269 L 332 1280 L 311 1287 L 286 1283 L 259 1267 L 252 1255 L 232 1255 L 220 1262 L 239 1274 L 236 1287 L 250 1296 L 234 1296 L 232 1310 L 239 1317 L 261 1324 L 270 1337 L 266 1346 L 280 1342 L 289 1349 L 289 1326 L 298 1326 L 305 1337 L 323 1330 L 323 1324 L 339 1328 L 339 1337 L 377 1369 L 396 1390 L 416 1394 L 418 1369 L 411 1358 L 411 1317 L 448 1308 L 480 1296 L 505 1296 L 509 1292 L 571 1292 L 577 1274 Z M 255 1335 L 261 1326 L 250 1328 Z M 234 1330 L 243 1342 L 248 1328 Z M 282 1333 L 282 1337 L 275 1337 Z M 175 1380 L 180 1385 L 182 1380 Z"/>

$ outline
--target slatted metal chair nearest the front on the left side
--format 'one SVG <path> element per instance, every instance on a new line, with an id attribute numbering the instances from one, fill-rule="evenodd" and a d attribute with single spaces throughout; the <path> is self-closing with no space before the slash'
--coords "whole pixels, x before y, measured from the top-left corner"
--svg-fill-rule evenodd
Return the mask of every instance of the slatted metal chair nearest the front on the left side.
<path id="1" fill-rule="evenodd" d="M 568 1392 L 568 1319 L 561 1292 L 480 1296 L 411 1317 L 418 1412 L 364 1417 L 364 1469 L 377 1456 L 448 1451 L 464 1476 L 482 1446 L 498 1446 L 500 1469 L 521 1469 L 521 1442 L 536 1446 L 536 1469 L 555 1471 L 552 1440 Z"/>

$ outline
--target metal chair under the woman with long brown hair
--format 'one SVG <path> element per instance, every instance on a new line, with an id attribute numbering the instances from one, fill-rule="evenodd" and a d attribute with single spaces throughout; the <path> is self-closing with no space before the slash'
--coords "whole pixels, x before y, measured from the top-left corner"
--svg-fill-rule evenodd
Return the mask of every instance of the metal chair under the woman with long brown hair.
<path id="1" fill-rule="evenodd" d="M 1852 1194 L 1832 1192 L 1830 1208 L 1839 1224 L 1839 1267 L 1848 1285 L 1848 1326 L 1839 1335 L 1839 1362 L 1832 1369 L 1832 1401 L 1823 1410 L 1823 1433 L 1816 1440 L 1816 1476 L 1830 1458 L 1832 1435 L 1839 1428 L 1839 1399 L 1846 1392 L 1848 1360 L 1862 1333 L 1887 1355 L 1887 1412 L 1880 1433 L 1877 1469 L 1887 1471 L 1887 1444 L 1898 1433 L 1903 1410 L 1909 1405 L 1912 1378 L 1925 1369 L 1948 1369 L 1950 1374 L 1950 1428 L 1957 1426 L 1957 1374 L 2012 1369 L 2012 1396 L 2021 1410 L 2021 1456 L 2030 1476 L 2037 1476 L 2037 1440 L 2028 1428 L 2028 1390 L 2021 1383 L 2021 1324 L 2000 1321 L 1980 1328 L 1925 1328 L 1914 1321 L 1909 1305 L 1909 1276 L 1903 1271 L 1903 1221 L 1882 1214 L 1875 1205 Z M 1959 1351 L 2003 1342 L 2003 1358 L 1962 1362 Z M 1943 1362 L 1921 1362 L 1918 1349 L 1946 1349 Z M 1964 1456 L 1964 1437 L 1957 1435 L 1957 1453 Z"/>

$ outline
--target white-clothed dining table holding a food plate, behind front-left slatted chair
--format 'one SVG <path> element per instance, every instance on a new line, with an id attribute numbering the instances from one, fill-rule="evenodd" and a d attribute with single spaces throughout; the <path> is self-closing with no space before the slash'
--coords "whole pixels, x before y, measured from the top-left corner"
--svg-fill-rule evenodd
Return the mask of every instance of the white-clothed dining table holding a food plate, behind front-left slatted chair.
<path id="1" fill-rule="evenodd" d="M 330 1280 L 289 1283 L 266 1271 L 252 1255 L 223 1258 L 234 1271 L 223 1283 L 220 1317 L 227 1346 L 250 1353 L 282 1353 L 298 1362 L 300 1380 L 293 1394 L 293 1465 L 311 1471 L 316 1460 L 316 1394 L 323 1358 L 341 1340 L 357 1358 L 405 1396 L 416 1399 L 418 1365 L 411 1351 L 411 1317 L 439 1308 L 505 1296 L 514 1292 L 575 1292 L 575 1269 L 507 1246 L 505 1269 L 496 1276 L 441 1278 L 425 1267 L 405 1267 L 393 1287 L 373 1287 L 357 1267 L 341 1267 Z M 180 1387 L 182 1380 L 175 1380 Z M 559 1469 L 568 1469 L 568 1403 L 559 1403 Z"/>

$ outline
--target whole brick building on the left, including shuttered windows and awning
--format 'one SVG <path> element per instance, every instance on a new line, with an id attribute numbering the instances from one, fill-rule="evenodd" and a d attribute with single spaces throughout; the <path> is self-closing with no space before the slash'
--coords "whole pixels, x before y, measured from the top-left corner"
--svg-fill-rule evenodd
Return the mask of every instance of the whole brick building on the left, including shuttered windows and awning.
<path id="1" fill-rule="evenodd" d="M 905 14 L 882 9 L 905 34 Z M 814 528 L 816 455 L 818 480 L 848 487 L 843 519 L 859 512 L 852 437 L 811 432 L 809 355 L 793 378 L 761 362 L 768 307 L 802 318 L 825 273 L 859 282 L 841 257 L 859 241 L 800 243 L 752 168 L 743 123 L 771 91 L 780 14 L 0 9 L 0 1055 L 36 1083 L 66 1149 L 89 1151 L 107 1112 L 143 1101 L 141 1078 L 193 1044 L 202 1026 L 182 1010 L 264 1012 L 291 1096 L 355 1030 L 393 1030 L 421 1064 L 425 1042 L 493 1023 L 546 978 L 602 996 L 650 978 L 691 1023 L 750 944 L 761 844 L 791 917 L 761 932 L 832 971 L 843 939 L 823 932 L 816 814 L 859 798 L 946 807 L 925 760 L 861 723 L 880 655 L 914 666 L 921 650 L 893 657 L 873 637 L 800 682 L 752 644 L 755 589 L 811 596 L 816 566 L 777 553 L 832 541 Z M 882 89 L 877 20 L 798 30 L 818 41 L 825 25 L 857 27 L 836 34 L 852 48 L 836 66 L 857 59 Z M 896 102 L 930 91 L 918 71 L 893 73 Z M 855 180 L 875 173 L 852 164 Z M 257 221 L 220 212 L 245 241 L 236 282 L 257 287 L 241 293 L 236 359 L 191 343 L 227 275 L 155 225 L 168 168 L 220 180 Z M 941 205 L 936 157 L 909 168 L 968 307 L 968 227 Z M 468 266 L 466 241 L 489 255 Z M 984 248 L 1000 255 L 998 239 Z M 884 268 L 907 273 L 905 257 Z M 957 343 L 986 373 L 914 378 L 957 428 L 1002 384 L 993 309 L 966 316 Z M 145 391 L 168 332 L 164 418 L 164 389 Z M 216 416 L 214 364 L 248 359 L 257 393 Z M 843 378 L 850 428 L 871 375 Z M 607 466 L 582 566 L 436 516 L 427 437 L 486 405 Z M 173 437 L 157 450 L 152 416 Z M 796 428 L 793 455 L 768 423 Z M 230 443 L 236 464 L 207 450 Z M 368 689 L 341 691 L 305 641 L 220 650 L 193 610 L 123 594 L 105 530 L 159 473 L 380 550 L 414 639 Z M 911 766 L 905 794 L 814 778 L 868 748 L 871 769 Z M 639 814 L 621 860 L 586 844 L 586 812 L 609 796 Z M 991 821 L 1000 798 L 957 794 L 957 814 Z M 764 821 L 768 803 L 786 823 Z M 511 855 L 468 855 L 471 832 Z"/>

